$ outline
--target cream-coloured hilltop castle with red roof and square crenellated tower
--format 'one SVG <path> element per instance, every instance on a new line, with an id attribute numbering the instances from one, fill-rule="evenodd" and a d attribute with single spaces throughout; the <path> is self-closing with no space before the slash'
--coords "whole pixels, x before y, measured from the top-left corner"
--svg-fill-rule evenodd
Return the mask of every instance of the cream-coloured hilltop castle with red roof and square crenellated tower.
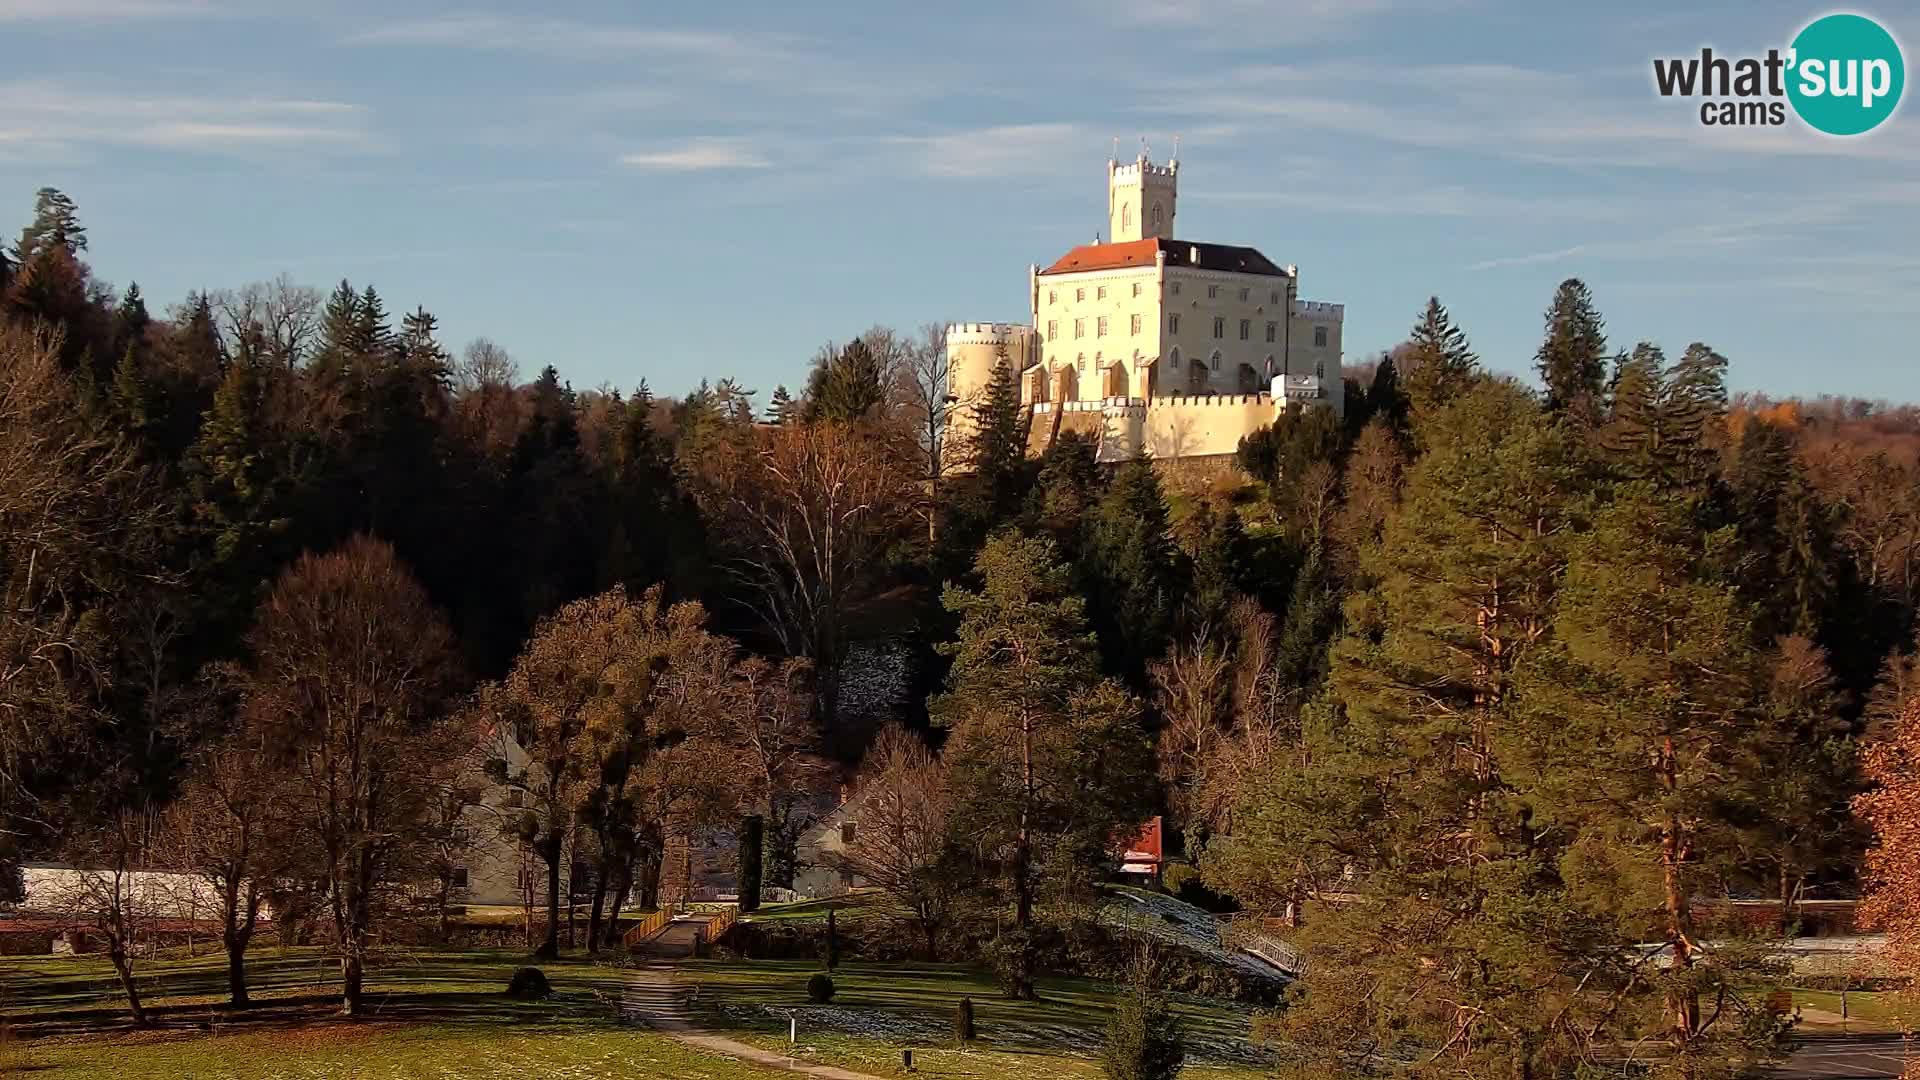
<path id="1" fill-rule="evenodd" d="M 947 327 L 956 434 L 1002 361 L 1029 454 L 1073 430 L 1100 461 L 1229 461 L 1288 404 L 1342 409 L 1344 307 L 1300 300 L 1298 269 L 1254 248 L 1175 240 L 1179 177 L 1179 158 L 1110 160 L 1110 240 L 1029 267 L 1027 325 Z"/>

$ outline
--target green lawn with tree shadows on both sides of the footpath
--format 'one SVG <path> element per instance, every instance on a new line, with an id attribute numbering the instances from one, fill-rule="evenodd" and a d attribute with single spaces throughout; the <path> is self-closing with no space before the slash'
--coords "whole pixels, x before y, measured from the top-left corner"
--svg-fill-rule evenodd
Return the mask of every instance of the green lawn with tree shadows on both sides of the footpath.
<path id="1" fill-rule="evenodd" d="M 367 982 L 367 1017 L 342 1020 L 338 967 L 313 947 L 263 945 L 248 955 L 255 1005 L 225 1007 L 225 955 L 202 951 L 144 961 L 140 992 L 156 1030 L 127 1026 L 111 967 L 100 957 L 0 957 L 0 1076 L 791 1076 L 685 1047 L 618 1019 L 626 972 L 563 959 L 540 965 L 547 1001 L 503 990 L 513 949 L 392 949 Z M 1041 982 L 1041 1001 L 1000 997 L 987 972 L 958 965 L 843 965 L 829 1007 L 806 1005 L 810 961 L 699 961 L 682 978 L 699 988 L 712 1028 L 766 1049 L 895 1076 L 916 1047 L 916 1074 L 950 1078 L 1094 1078 L 1114 988 L 1075 978 Z M 954 1001 L 975 1003 L 979 1040 L 950 1045 Z M 785 1040 L 785 1009 L 801 1017 L 801 1045 Z M 1258 1076 L 1242 1007 L 1181 997 L 1192 1076 Z"/>

